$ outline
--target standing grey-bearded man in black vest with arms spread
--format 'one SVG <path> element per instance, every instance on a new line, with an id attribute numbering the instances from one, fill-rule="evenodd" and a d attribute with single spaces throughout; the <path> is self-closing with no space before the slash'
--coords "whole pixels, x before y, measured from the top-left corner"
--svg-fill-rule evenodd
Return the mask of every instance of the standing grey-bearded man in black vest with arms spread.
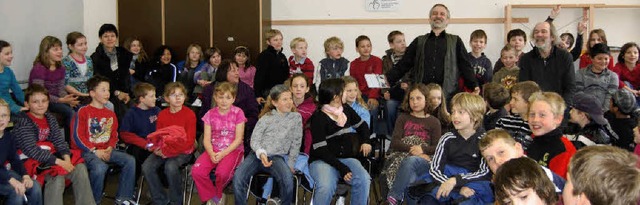
<path id="1" fill-rule="evenodd" d="M 395 84 L 411 71 L 411 82 L 437 83 L 442 86 L 446 99 L 451 99 L 458 92 L 458 78 L 462 75 L 467 88 L 480 92 L 464 42 L 457 35 L 445 32 L 450 17 L 444 4 L 431 7 L 431 32 L 415 38 L 398 63 L 398 69 L 386 73 L 390 83 Z"/>

